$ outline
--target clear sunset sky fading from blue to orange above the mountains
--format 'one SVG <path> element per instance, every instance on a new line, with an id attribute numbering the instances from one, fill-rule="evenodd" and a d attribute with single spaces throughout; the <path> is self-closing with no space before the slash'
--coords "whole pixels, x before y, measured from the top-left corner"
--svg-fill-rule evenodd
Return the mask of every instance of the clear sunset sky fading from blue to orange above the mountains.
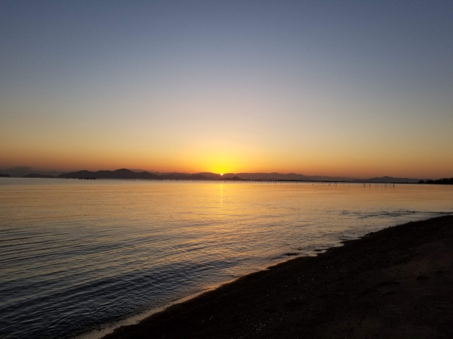
<path id="1" fill-rule="evenodd" d="M 453 1 L 0 1 L 0 168 L 453 177 Z"/>

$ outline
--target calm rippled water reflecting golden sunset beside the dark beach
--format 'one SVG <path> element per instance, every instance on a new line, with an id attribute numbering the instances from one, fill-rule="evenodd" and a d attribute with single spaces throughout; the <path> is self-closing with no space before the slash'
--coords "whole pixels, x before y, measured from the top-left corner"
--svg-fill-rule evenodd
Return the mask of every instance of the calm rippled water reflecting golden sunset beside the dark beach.
<path id="1" fill-rule="evenodd" d="M 367 232 L 452 186 L 0 179 L 0 337 L 69 338 Z"/>

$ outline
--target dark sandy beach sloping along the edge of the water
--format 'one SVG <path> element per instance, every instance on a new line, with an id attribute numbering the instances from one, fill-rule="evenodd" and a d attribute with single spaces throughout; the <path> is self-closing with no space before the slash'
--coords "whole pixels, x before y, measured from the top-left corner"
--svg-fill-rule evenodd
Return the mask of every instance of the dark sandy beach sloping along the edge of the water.
<path id="1" fill-rule="evenodd" d="M 453 338 L 453 216 L 246 275 L 113 338 Z"/>

